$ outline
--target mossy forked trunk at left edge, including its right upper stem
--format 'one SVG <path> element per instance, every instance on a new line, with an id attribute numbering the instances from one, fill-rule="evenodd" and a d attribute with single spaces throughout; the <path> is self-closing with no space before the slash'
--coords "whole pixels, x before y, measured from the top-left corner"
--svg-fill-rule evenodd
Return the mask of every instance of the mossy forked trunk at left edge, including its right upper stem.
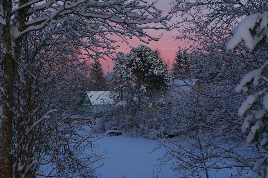
<path id="1" fill-rule="evenodd" d="M 21 0 L 24 4 L 28 0 Z M 10 33 L 10 19 L 11 19 L 11 0 L 3 0 L 3 14 L 6 19 L 6 25 L 2 27 L 2 63 L 1 70 L 3 74 L 2 89 L 5 95 L 0 96 L 0 178 L 13 177 L 13 155 L 12 138 L 13 138 L 13 108 L 14 102 L 14 84 L 17 76 L 17 62 L 20 55 L 21 37 L 13 39 L 14 46 L 12 46 L 12 35 Z M 23 8 L 17 14 L 17 27 L 19 31 L 24 28 L 24 22 L 27 17 L 28 8 Z M 14 52 L 12 54 L 12 51 Z"/>

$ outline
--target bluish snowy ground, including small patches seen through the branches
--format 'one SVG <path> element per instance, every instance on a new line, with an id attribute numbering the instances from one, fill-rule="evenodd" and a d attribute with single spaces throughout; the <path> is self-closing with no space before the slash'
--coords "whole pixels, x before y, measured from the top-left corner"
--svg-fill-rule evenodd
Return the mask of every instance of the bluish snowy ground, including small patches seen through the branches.
<path id="1" fill-rule="evenodd" d="M 85 126 L 81 129 L 90 132 L 91 129 Z M 88 147 L 84 150 L 86 153 L 91 154 L 92 151 L 97 155 L 102 155 L 100 159 L 94 163 L 94 167 L 101 167 L 96 169 L 96 174 L 102 175 L 103 178 L 121 178 L 123 174 L 126 178 L 156 178 L 157 172 L 161 169 L 160 176 L 157 178 L 177 178 L 183 175 L 177 175 L 170 168 L 170 165 L 159 165 L 157 161 L 163 157 L 165 152 L 164 148 L 152 150 L 157 147 L 157 142 L 153 139 L 131 137 L 127 134 L 120 136 L 111 136 L 108 134 L 103 136 L 104 133 L 93 134 L 92 141 L 94 140 L 93 150 Z M 173 139 L 176 139 L 174 137 Z M 43 174 L 51 171 L 50 165 L 42 165 L 44 170 Z M 226 178 L 230 177 L 230 169 L 210 169 L 209 176 L 211 178 Z M 205 178 L 205 174 L 201 176 Z"/>

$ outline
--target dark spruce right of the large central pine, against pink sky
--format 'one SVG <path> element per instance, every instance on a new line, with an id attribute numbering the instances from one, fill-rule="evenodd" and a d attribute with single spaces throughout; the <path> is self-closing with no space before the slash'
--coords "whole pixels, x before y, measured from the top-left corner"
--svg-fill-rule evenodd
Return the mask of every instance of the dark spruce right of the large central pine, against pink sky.
<path id="1" fill-rule="evenodd" d="M 172 63 L 171 74 L 174 78 L 188 77 L 191 73 L 191 62 L 187 51 L 182 51 L 179 47 L 176 52 L 174 62 Z"/>

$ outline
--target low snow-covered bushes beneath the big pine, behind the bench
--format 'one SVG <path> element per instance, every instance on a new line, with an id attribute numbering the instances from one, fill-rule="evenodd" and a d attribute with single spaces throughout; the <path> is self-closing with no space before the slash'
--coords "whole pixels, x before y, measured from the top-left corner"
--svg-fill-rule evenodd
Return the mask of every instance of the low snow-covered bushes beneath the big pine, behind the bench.
<path id="1" fill-rule="evenodd" d="M 171 132 L 168 110 L 166 108 L 128 110 L 118 112 L 119 105 L 113 105 L 106 114 L 101 114 L 101 122 L 105 130 L 111 127 L 125 129 L 126 133 L 133 137 L 145 137 L 162 139 L 168 137 Z"/>

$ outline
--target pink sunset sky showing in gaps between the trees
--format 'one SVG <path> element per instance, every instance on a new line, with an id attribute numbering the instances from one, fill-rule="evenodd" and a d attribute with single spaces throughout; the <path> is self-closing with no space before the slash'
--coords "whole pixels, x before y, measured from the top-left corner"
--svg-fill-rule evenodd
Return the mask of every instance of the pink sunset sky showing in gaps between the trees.
<path id="1" fill-rule="evenodd" d="M 151 2 L 152 0 L 148 1 L 148 2 Z M 160 10 L 163 11 L 163 15 L 166 15 L 169 11 L 170 11 L 170 8 L 171 8 L 171 5 L 170 5 L 170 2 L 171 0 L 159 0 L 157 3 L 156 3 L 156 7 Z M 178 19 L 178 17 L 173 17 L 172 18 L 172 21 L 174 23 L 176 23 L 176 21 L 180 21 L 180 19 Z M 157 37 L 157 33 L 161 33 L 160 31 L 156 31 L 155 32 L 155 35 L 151 34 L 153 37 Z M 146 44 L 146 43 L 142 43 L 141 41 L 139 41 L 139 39 L 137 38 L 133 38 L 131 40 L 129 40 L 129 44 L 134 46 L 134 47 L 137 47 L 139 44 L 143 44 L 143 45 L 147 45 L 149 46 L 151 49 L 159 49 L 161 51 L 161 56 L 162 58 L 166 61 L 170 60 L 170 64 L 171 62 L 173 61 L 173 58 L 175 56 L 175 53 L 177 52 L 178 50 L 178 47 L 181 46 L 181 47 L 188 47 L 188 44 L 185 44 L 184 41 L 179 41 L 179 40 L 175 40 L 174 37 L 180 35 L 179 31 L 177 29 L 174 29 L 172 31 L 167 31 L 160 39 L 159 41 L 150 41 L 149 44 Z M 131 48 L 129 48 L 125 43 L 122 43 L 122 44 L 119 44 L 120 47 L 117 49 L 116 52 L 124 52 L 124 53 L 128 53 Z M 102 68 L 103 68 L 103 71 L 105 73 L 107 73 L 108 71 L 112 71 L 113 70 L 113 61 L 112 60 L 108 60 L 108 61 L 105 61 L 103 59 L 100 59 L 101 62 L 102 62 Z"/>

